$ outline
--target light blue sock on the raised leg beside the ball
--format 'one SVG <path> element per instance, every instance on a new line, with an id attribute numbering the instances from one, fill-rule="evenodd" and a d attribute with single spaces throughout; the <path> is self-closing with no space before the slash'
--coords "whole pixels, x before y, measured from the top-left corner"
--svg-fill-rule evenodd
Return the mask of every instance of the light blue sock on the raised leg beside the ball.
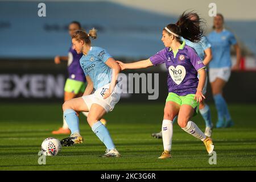
<path id="1" fill-rule="evenodd" d="M 66 109 L 63 113 L 65 121 L 68 123 L 68 127 L 71 133 L 80 133 L 79 131 L 79 118 L 76 115 L 76 111 L 73 109 Z"/>

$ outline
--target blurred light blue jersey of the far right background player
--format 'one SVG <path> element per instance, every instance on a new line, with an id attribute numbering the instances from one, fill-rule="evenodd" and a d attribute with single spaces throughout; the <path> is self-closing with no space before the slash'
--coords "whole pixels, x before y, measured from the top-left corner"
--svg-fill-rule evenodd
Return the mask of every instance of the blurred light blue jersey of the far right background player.
<path id="1" fill-rule="evenodd" d="M 228 30 L 210 32 L 207 36 L 212 45 L 212 61 L 209 63 L 209 68 L 225 68 L 231 67 L 230 46 L 237 43 L 234 34 Z"/>

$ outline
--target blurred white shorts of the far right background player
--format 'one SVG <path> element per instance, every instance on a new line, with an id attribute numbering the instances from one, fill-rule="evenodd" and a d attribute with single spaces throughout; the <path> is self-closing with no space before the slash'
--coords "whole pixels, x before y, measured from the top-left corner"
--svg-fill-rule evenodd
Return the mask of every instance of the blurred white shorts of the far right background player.
<path id="1" fill-rule="evenodd" d="M 216 78 L 221 78 L 226 82 L 229 81 L 229 77 L 231 75 L 231 68 L 209 68 L 209 81 L 213 82 Z"/>

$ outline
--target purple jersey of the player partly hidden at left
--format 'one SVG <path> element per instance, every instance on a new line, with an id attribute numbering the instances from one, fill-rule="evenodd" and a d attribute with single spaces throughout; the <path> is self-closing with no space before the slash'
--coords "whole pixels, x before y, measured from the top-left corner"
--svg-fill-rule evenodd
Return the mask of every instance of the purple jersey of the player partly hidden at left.
<path id="1" fill-rule="evenodd" d="M 80 66 L 80 58 L 82 53 L 77 53 L 72 47 L 68 52 L 68 78 L 72 80 L 85 82 L 84 71 Z"/>

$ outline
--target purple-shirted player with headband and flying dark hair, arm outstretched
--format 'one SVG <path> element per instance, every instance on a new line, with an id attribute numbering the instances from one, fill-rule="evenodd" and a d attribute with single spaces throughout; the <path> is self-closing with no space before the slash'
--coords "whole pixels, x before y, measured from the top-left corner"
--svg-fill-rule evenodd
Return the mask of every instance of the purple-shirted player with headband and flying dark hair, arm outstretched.
<path id="1" fill-rule="evenodd" d="M 214 146 L 212 139 L 207 137 L 191 121 L 197 114 L 199 102 L 205 97 L 203 88 L 206 78 L 205 65 L 195 50 L 181 41 L 181 36 L 191 42 L 198 42 L 203 36 L 200 28 L 201 20 L 191 20 L 191 13 L 180 18 L 180 24 L 168 24 L 162 32 L 162 42 L 166 48 L 162 49 L 147 60 L 124 64 L 118 61 L 122 70 L 147 68 L 152 65 L 165 63 L 168 69 L 168 97 L 164 107 L 162 123 L 164 152 L 159 159 L 171 158 L 172 121 L 178 115 L 177 122 L 181 129 L 204 142 L 208 153 L 212 153 Z M 197 73 L 200 75 L 197 78 Z"/>

